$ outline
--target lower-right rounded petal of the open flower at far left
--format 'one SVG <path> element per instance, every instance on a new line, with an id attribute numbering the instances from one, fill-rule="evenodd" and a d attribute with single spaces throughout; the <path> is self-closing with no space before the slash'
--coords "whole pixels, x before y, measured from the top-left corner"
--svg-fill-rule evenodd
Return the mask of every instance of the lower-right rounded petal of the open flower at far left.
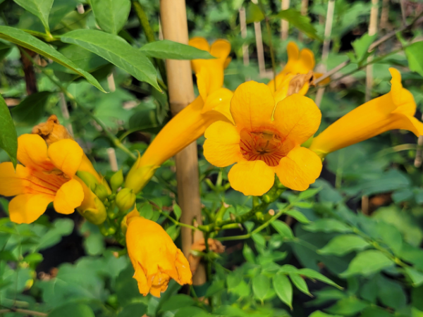
<path id="1" fill-rule="evenodd" d="M 78 180 L 65 182 L 57 191 L 54 198 L 54 210 L 68 215 L 75 211 L 84 200 L 84 190 Z"/>

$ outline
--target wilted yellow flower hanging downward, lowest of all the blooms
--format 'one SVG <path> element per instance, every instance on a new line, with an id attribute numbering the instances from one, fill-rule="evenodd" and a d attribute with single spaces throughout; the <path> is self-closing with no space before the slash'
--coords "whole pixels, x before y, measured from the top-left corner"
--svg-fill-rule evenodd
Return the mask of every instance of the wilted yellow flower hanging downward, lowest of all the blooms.
<path id="1" fill-rule="evenodd" d="M 141 294 L 160 297 L 171 278 L 180 285 L 192 284 L 188 260 L 161 225 L 140 217 L 137 209 L 128 213 L 126 223 L 126 247 Z"/>

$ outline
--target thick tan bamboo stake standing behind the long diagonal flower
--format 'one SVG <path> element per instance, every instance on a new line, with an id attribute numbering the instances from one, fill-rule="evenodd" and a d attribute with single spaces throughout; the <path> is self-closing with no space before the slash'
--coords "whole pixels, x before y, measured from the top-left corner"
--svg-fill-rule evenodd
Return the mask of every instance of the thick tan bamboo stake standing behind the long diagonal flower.
<path id="1" fill-rule="evenodd" d="M 161 27 L 164 39 L 188 44 L 188 22 L 185 0 L 160 0 Z M 168 94 L 173 115 L 190 104 L 194 96 L 190 61 L 166 60 Z M 182 209 L 182 223 L 201 225 L 200 182 L 198 175 L 197 144 L 192 142 L 176 154 L 178 203 Z M 181 228 L 182 250 L 188 257 L 192 243 L 203 238 L 202 232 Z M 206 282 L 204 265 L 192 277 L 194 285 Z"/>

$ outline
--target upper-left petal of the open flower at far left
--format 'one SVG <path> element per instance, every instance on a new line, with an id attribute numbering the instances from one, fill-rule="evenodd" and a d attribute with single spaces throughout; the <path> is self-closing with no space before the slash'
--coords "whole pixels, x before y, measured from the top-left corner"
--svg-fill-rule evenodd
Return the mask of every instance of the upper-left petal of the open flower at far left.
<path id="1" fill-rule="evenodd" d="M 39 135 L 18 137 L 18 161 L 27 168 L 51 170 L 54 168 L 47 157 L 47 144 Z"/>

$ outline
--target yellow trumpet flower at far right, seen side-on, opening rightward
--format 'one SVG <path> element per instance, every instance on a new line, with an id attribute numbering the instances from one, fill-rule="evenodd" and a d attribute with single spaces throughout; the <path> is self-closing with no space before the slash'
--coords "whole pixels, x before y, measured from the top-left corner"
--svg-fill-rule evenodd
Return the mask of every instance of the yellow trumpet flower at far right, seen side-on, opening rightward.
<path id="1" fill-rule="evenodd" d="M 411 92 L 403 88 L 401 74 L 389 68 L 391 91 L 350 111 L 329 125 L 312 141 L 309 149 L 320 157 L 362 142 L 388 130 L 409 130 L 423 135 L 423 123 L 414 117 L 416 103 Z"/>

